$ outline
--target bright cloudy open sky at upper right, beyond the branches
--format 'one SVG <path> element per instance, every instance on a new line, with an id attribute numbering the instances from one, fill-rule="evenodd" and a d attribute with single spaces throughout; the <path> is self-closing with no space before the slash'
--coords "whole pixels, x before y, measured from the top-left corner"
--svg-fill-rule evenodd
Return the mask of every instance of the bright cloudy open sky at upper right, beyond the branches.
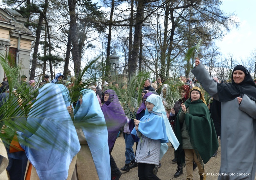
<path id="1" fill-rule="evenodd" d="M 227 14 L 234 12 L 240 26 L 233 27 L 216 46 L 224 57 L 233 54 L 237 60 L 245 60 L 256 49 L 256 0 L 223 0 L 220 8 Z"/>

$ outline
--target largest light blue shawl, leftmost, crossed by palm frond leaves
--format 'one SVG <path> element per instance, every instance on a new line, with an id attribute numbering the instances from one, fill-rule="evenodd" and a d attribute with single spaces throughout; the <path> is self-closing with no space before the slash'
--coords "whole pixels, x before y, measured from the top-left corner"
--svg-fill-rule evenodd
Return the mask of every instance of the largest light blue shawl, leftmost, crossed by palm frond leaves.
<path id="1" fill-rule="evenodd" d="M 34 132 L 26 130 L 18 133 L 18 138 L 39 178 L 66 180 L 80 144 L 57 84 L 48 83 L 39 89 L 26 126 Z"/>

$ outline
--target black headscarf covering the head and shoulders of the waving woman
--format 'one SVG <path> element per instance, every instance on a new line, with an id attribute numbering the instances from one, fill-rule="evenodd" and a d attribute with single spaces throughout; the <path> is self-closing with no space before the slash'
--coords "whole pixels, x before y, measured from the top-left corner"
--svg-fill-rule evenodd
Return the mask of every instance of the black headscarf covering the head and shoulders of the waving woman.
<path id="1" fill-rule="evenodd" d="M 241 70 L 245 73 L 245 79 L 240 82 L 239 84 L 235 83 L 233 80 L 233 73 L 236 70 Z M 219 101 L 230 101 L 237 97 L 242 97 L 242 95 L 246 94 L 251 100 L 256 102 L 256 85 L 251 78 L 250 73 L 248 70 L 242 66 L 237 65 L 232 74 L 231 74 L 231 83 L 218 83 L 218 94 L 219 94 Z"/>

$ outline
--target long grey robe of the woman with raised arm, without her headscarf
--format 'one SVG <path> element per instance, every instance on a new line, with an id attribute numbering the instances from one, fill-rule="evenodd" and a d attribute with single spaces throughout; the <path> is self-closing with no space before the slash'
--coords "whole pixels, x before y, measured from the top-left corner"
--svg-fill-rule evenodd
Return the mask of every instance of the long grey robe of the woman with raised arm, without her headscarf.
<path id="1" fill-rule="evenodd" d="M 200 63 L 192 73 L 219 100 L 218 83 Z M 256 92 L 255 92 L 256 93 Z M 254 180 L 256 172 L 256 103 L 246 94 L 221 102 L 221 166 L 218 180 Z"/>

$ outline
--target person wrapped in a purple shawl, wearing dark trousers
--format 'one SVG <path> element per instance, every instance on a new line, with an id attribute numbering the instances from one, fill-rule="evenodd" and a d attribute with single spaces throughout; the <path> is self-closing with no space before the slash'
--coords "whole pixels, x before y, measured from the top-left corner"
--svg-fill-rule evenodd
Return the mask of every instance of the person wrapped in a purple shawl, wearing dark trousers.
<path id="1" fill-rule="evenodd" d="M 117 140 L 117 135 L 120 129 L 126 124 L 127 118 L 114 90 L 109 89 L 105 91 L 104 101 L 105 103 L 102 105 L 101 110 L 104 114 L 108 128 L 111 179 L 119 179 L 122 173 L 117 168 L 117 164 L 114 161 L 111 152 L 113 150 L 114 143 Z"/>

